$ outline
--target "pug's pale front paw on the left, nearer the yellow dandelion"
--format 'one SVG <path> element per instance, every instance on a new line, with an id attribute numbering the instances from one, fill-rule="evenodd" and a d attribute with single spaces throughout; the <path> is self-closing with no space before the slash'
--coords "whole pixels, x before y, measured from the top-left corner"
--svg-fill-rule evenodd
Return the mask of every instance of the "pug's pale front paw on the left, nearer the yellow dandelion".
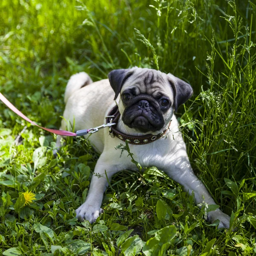
<path id="1" fill-rule="evenodd" d="M 103 210 L 100 207 L 95 207 L 85 202 L 76 209 L 76 218 L 78 218 L 79 221 L 89 221 L 90 224 L 92 224 L 102 212 Z"/>

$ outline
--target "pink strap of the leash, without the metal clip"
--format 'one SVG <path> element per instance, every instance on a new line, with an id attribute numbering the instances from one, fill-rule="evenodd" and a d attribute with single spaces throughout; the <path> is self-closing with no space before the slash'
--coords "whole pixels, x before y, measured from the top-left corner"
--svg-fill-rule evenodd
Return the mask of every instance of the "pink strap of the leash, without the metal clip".
<path id="1" fill-rule="evenodd" d="M 37 125 L 35 122 L 33 122 L 32 120 L 30 120 L 28 117 L 26 117 L 25 115 L 23 115 L 23 113 L 21 113 L 19 110 L 17 110 L 17 108 L 15 108 L 14 105 L 12 105 L 11 102 L 9 102 L 8 99 L 6 99 L 5 96 L 3 96 L 2 93 L 0 93 L 0 100 L 8 107 L 10 108 L 14 113 L 16 113 L 17 115 L 21 116 L 23 119 L 25 119 L 26 121 L 32 123 L 33 125 L 36 125 L 38 127 L 40 127 L 41 129 L 44 129 L 45 131 L 49 131 L 53 134 L 58 134 L 58 135 L 62 135 L 62 136 L 81 136 L 81 135 L 85 135 L 88 133 L 89 130 L 85 129 L 85 130 L 81 130 L 81 131 L 77 131 L 76 133 L 71 132 L 71 131 L 63 131 L 63 130 L 56 130 L 56 129 L 49 129 L 49 128 L 44 128 L 40 125 Z"/>

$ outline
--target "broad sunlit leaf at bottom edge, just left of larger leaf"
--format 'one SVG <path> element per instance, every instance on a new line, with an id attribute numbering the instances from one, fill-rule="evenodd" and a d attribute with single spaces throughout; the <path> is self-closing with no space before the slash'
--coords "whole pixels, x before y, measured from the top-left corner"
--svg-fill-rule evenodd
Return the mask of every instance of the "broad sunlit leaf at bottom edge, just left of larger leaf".
<path id="1" fill-rule="evenodd" d="M 121 245 L 121 250 L 125 256 L 134 256 L 140 252 L 142 247 L 143 241 L 136 235 L 126 239 Z"/>

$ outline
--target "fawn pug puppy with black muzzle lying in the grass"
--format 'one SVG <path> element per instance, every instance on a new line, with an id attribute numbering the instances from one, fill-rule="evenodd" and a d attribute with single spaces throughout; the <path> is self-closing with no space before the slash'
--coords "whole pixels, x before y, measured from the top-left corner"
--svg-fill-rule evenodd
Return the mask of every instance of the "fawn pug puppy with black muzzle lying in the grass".
<path id="1" fill-rule="evenodd" d="M 192 171 L 174 115 L 192 92 L 189 84 L 172 74 L 147 68 L 113 70 L 108 79 L 94 83 L 84 72 L 71 76 L 65 91 L 66 108 L 61 129 L 66 129 L 67 122 L 73 123 L 74 119 L 75 131 L 102 125 L 116 104 L 120 113 L 116 119 L 115 129 L 119 132 L 116 136 L 110 136 L 108 128 L 90 137 L 84 136 L 101 155 L 86 201 L 76 209 L 80 221 L 93 223 L 102 213 L 107 178 L 111 180 L 112 175 L 124 169 L 137 169 L 126 154 L 120 157 L 120 151 L 115 149 L 120 144 L 125 145 L 125 140 L 142 167 L 156 166 L 166 172 L 185 191 L 194 192 L 196 204 L 215 204 Z M 60 146 L 60 136 L 57 145 Z M 220 209 L 208 213 L 209 221 L 217 219 L 220 221 L 218 228 L 229 228 L 230 217 Z"/>

